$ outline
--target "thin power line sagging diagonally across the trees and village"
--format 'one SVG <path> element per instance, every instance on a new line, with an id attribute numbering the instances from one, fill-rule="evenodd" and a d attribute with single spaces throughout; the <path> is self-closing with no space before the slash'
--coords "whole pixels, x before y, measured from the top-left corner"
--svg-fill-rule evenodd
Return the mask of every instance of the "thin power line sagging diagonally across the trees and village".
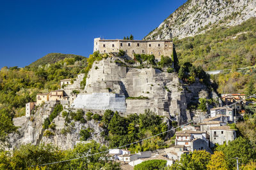
<path id="1" fill-rule="evenodd" d="M 250 98 L 250 97 L 255 97 L 255 95 L 246 97 L 245 99 L 248 99 L 248 98 Z M 238 102 L 239 102 L 239 101 L 237 101 L 236 103 L 238 103 Z M 234 105 L 234 104 L 236 104 L 236 103 L 230 104 L 230 105 L 228 105 L 228 106 L 232 106 L 232 105 Z M 224 109 L 225 109 L 225 108 L 223 108 L 223 109 L 221 109 L 221 110 L 224 110 Z M 220 110 L 219 110 L 219 111 L 220 111 Z M 209 114 L 206 115 L 206 116 L 209 116 L 209 115 L 211 115 L 211 113 L 209 113 Z M 202 116 L 202 117 L 204 117 L 204 116 Z M 202 118 L 202 117 L 201 117 L 201 118 Z M 198 117 L 196 120 L 200 120 L 201 118 Z M 140 143 L 141 141 L 145 141 L 145 140 L 147 140 L 147 139 L 154 138 L 154 137 L 159 136 L 159 135 L 161 135 L 161 134 L 164 134 L 164 133 L 166 133 L 166 132 L 174 131 L 175 129 L 178 129 L 179 127 L 182 127 L 182 126 L 184 126 L 184 125 L 191 124 L 191 123 L 195 122 L 196 120 L 192 120 L 191 122 L 188 122 L 188 123 L 183 124 L 183 125 L 179 125 L 178 127 L 172 128 L 172 129 L 170 129 L 170 130 L 168 130 L 168 131 L 161 132 L 161 133 L 156 134 L 156 135 L 154 135 L 154 136 L 150 136 L 150 137 L 148 137 L 148 138 L 144 138 L 144 139 L 141 139 L 141 140 L 139 140 L 139 141 L 135 141 L 135 142 L 133 142 L 133 143 L 129 143 L 129 144 L 127 144 L 127 145 L 119 146 L 119 147 L 117 147 L 117 148 L 112 148 L 112 149 L 109 149 L 109 150 L 120 149 L 120 148 L 124 148 L 124 147 L 126 147 L 126 146 L 129 146 L 129 145 L 133 145 L 133 144 L 136 144 L 136 143 Z M 57 162 L 39 164 L 39 165 L 31 166 L 31 167 L 35 167 L 35 166 L 47 166 L 47 165 L 51 165 L 51 164 L 58 164 L 58 163 L 61 163 L 61 162 L 68 162 L 68 161 L 70 161 L 70 160 L 77 160 L 77 159 L 82 159 L 82 158 L 85 158 L 85 157 L 92 157 L 92 156 L 94 156 L 94 155 L 99 155 L 99 154 L 101 154 L 101 153 L 109 152 L 109 150 L 106 150 L 106 151 L 103 151 L 103 152 L 98 152 L 98 153 L 93 153 L 93 154 L 90 154 L 90 155 L 85 155 L 85 156 L 83 156 L 83 157 L 77 157 L 77 158 L 74 158 L 74 159 L 60 160 L 60 161 L 57 161 Z"/>

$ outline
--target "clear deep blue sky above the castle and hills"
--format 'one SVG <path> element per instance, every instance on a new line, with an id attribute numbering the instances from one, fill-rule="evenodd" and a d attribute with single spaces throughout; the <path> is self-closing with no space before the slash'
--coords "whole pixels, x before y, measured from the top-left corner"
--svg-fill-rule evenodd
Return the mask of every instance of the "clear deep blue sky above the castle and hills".
<path id="1" fill-rule="evenodd" d="M 142 39 L 185 2 L 0 0 L 0 68 L 52 52 L 88 57 L 97 37 Z"/>

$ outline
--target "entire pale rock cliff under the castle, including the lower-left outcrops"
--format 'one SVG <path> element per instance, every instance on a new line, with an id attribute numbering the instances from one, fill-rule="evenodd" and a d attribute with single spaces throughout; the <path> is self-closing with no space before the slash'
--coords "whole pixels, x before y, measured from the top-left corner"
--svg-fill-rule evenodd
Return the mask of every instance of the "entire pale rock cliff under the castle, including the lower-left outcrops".
<path id="1" fill-rule="evenodd" d="M 196 80 L 192 85 L 185 85 L 177 73 L 167 73 L 160 69 L 131 66 L 118 57 L 108 57 L 94 62 L 86 78 L 86 87 L 77 89 L 84 74 L 78 76 L 73 85 L 64 88 L 67 94 L 74 89 L 81 92 L 74 97 L 74 103 L 62 103 L 64 110 L 76 111 L 78 109 L 104 113 L 110 109 L 118 111 L 122 116 L 131 113 L 144 113 L 152 110 L 157 115 L 178 122 L 188 122 L 201 113 L 190 113 L 187 106 L 195 103 L 199 98 L 218 97 L 204 84 Z M 74 87 L 74 88 L 73 88 Z M 71 100 L 73 101 L 73 99 Z M 60 102 L 61 103 L 61 102 Z M 26 118 L 15 118 L 14 124 L 19 126 L 19 134 L 12 134 L 10 143 L 12 147 L 22 143 L 53 143 L 60 148 L 73 148 L 81 138 L 81 129 L 93 129 L 93 139 L 99 143 L 106 143 L 100 136 L 103 129 L 99 122 L 90 120 L 85 122 L 67 121 L 60 115 L 52 120 L 55 127 L 51 135 L 46 134 L 43 128 L 45 118 L 49 118 L 58 101 L 47 101 L 42 106 L 37 106 L 35 114 Z M 85 118 L 85 115 L 84 115 Z M 168 121 L 167 121 L 168 122 Z"/>

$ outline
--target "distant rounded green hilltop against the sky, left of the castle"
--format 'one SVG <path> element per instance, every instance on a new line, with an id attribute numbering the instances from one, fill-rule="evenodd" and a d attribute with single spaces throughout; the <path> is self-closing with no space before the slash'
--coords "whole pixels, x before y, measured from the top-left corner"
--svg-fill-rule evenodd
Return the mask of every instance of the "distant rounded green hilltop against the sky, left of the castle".
<path id="1" fill-rule="evenodd" d="M 40 66 L 44 64 L 52 64 L 58 62 L 59 60 L 63 60 L 65 58 L 76 58 L 76 59 L 84 59 L 85 57 L 81 55 L 74 55 L 74 54 L 65 54 L 65 53 L 49 53 L 44 57 L 36 60 L 29 64 L 31 67 Z"/>

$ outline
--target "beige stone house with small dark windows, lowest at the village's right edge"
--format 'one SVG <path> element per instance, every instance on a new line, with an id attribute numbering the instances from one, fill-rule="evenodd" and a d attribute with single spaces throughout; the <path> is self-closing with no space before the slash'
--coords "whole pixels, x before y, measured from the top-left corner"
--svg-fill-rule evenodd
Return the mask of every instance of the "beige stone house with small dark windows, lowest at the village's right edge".
<path id="1" fill-rule="evenodd" d="M 209 134 L 211 147 L 213 147 L 216 143 L 223 145 L 225 142 L 236 139 L 236 130 L 230 129 L 228 125 L 210 127 Z"/>

